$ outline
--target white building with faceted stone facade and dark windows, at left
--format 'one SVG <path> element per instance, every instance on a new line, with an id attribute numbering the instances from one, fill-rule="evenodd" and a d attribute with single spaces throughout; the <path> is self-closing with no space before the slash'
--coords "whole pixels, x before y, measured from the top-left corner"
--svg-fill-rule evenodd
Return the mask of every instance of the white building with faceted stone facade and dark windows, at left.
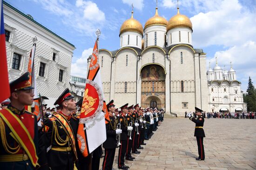
<path id="1" fill-rule="evenodd" d="M 69 87 L 74 45 L 6 2 L 3 2 L 3 10 L 9 81 L 27 71 L 32 39 L 36 37 L 37 89 L 41 96 L 49 98 L 45 103 L 53 107 L 59 95 Z"/>

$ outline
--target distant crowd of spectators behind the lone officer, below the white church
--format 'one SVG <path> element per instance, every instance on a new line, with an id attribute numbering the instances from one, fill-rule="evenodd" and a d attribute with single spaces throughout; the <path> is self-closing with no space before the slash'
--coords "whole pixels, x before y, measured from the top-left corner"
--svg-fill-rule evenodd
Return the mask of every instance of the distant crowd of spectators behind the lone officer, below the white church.
<path id="1" fill-rule="evenodd" d="M 193 117 L 196 117 L 195 113 L 189 112 Z M 187 112 L 185 112 L 185 118 L 187 118 Z M 256 112 L 203 112 L 204 118 L 217 118 L 217 119 L 256 119 Z"/>

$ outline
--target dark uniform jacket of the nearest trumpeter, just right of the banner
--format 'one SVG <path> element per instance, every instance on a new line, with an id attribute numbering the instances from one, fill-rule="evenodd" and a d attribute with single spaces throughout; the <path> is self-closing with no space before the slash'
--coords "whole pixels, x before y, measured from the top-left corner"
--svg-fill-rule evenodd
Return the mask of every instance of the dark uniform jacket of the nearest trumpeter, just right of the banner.
<path id="1" fill-rule="evenodd" d="M 108 123 L 106 124 L 106 133 L 107 139 L 103 143 L 103 147 L 106 149 L 111 149 L 116 147 L 116 121 L 115 117 L 109 114 L 109 120 L 106 120 Z"/>

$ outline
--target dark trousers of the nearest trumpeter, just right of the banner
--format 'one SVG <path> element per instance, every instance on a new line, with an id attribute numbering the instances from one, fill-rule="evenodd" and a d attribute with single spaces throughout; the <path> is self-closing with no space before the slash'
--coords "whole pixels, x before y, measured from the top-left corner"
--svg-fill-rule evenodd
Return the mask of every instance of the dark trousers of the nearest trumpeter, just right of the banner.
<path id="1" fill-rule="evenodd" d="M 115 148 L 106 149 L 105 156 L 102 163 L 102 170 L 112 170 L 115 159 Z"/>

